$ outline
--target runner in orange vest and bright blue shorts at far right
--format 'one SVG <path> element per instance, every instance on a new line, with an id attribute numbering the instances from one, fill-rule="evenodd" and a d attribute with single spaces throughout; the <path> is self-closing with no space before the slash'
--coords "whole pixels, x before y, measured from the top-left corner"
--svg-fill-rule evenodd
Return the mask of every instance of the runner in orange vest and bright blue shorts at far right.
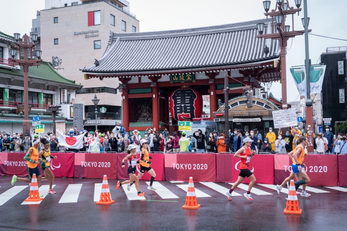
<path id="1" fill-rule="evenodd" d="M 296 178 L 295 184 L 295 190 L 299 188 L 299 186 L 302 184 L 302 191 L 300 193 L 301 196 L 310 196 L 311 194 L 306 192 L 306 184 L 309 183 L 311 180 L 308 177 L 307 173 L 305 171 L 301 171 L 302 167 L 305 167 L 303 165 L 305 156 L 307 153 L 305 153 L 305 146 L 307 145 L 307 138 L 305 136 L 300 136 L 299 143 L 291 152 L 289 152 L 288 156 L 293 161 L 291 164 L 291 172 L 289 177 L 287 177 L 281 185 L 276 185 L 277 192 L 280 194 L 280 191 L 282 187 L 286 185 L 288 181 L 290 181 L 292 178 Z"/>

